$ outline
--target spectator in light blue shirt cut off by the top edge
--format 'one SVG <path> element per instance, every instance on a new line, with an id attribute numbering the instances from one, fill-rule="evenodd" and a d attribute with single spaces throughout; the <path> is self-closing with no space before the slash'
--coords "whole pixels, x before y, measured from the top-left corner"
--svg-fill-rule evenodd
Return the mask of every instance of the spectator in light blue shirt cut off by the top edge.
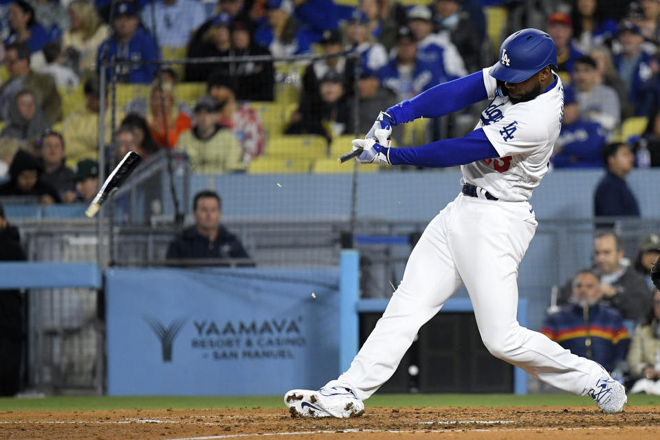
<path id="1" fill-rule="evenodd" d="M 186 47 L 204 21 L 206 10 L 197 0 L 156 0 L 142 10 L 142 23 L 158 36 L 159 47 Z"/>

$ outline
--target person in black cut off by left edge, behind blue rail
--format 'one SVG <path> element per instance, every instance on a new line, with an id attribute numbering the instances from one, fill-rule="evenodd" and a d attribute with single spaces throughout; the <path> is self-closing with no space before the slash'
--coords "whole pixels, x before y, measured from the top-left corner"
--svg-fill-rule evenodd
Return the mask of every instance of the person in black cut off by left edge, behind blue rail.
<path id="1" fill-rule="evenodd" d="M 0 203 L 0 262 L 25 261 L 19 230 L 5 219 Z M 0 290 L 0 396 L 18 393 L 21 384 L 23 309 L 21 293 Z"/>

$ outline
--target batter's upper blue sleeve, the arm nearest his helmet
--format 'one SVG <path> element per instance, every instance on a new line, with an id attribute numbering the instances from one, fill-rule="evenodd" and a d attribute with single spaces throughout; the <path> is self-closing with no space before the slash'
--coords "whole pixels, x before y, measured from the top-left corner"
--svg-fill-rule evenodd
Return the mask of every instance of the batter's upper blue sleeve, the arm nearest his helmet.
<path id="1" fill-rule="evenodd" d="M 483 72 L 463 76 L 423 91 L 415 98 L 399 102 L 387 109 L 397 124 L 417 118 L 439 118 L 488 98 Z"/>

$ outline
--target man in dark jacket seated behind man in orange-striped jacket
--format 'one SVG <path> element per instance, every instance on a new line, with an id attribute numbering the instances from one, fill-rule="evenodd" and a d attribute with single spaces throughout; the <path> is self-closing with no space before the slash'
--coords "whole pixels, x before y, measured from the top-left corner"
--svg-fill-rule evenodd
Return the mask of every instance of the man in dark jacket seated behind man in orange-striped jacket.
<path id="1" fill-rule="evenodd" d="M 625 319 L 643 320 L 651 309 L 651 294 L 643 276 L 632 265 L 625 265 L 619 237 L 611 231 L 597 232 L 593 240 L 593 272 L 602 291 L 601 303 L 614 307 Z M 569 304 L 571 283 L 560 290 L 558 304 Z"/>

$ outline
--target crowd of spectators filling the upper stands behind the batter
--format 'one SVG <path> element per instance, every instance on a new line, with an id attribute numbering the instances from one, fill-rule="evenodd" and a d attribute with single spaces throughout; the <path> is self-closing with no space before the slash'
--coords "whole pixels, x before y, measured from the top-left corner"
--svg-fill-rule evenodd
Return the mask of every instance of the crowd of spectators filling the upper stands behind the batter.
<path id="1" fill-rule="evenodd" d="M 556 71 L 565 86 L 564 122 L 552 166 L 606 168 L 608 177 L 624 179 L 625 173 L 608 164 L 606 146 L 614 141 L 628 145 L 633 166 L 660 166 L 658 1 L 540 1 L 533 12 L 507 0 L 418 3 L 363 0 L 351 8 L 332 0 L 8 1 L 0 7 L 6 69 L 0 140 L 12 147 L 3 148 L 0 173 L 9 177 L 15 144 L 43 162 L 37 144 L 54 126 L 65 144 L 67 166 L 98 161 L 101 119 L 101 143 L 108 146 L 105 158 L 111 164 L 136 141 L 144 156 L 161 148 L 186 151 L 197 172 L 245 171 L 255 157 L 267 155 L 269 135 L 317 134 L 331 141 L 366 132 L 377 111 L 491 65 L 497 38 L 528 25 L 547 30 L 555 41 Z M 502 8 L 508 19 L 487 23 L 486 7 Z M 159 62 L 171 54 L 194 60 L 312 53 L 324 57 L 301 72 L 299 102 L 285 114 L 279 133 L 269 132 L 250 105 L 276 100 L 282 78 L 269 59 L 171 67 Z M 103 75 L 144 85 L 148 93 L 113 114 L 99 115 Z M 189 82 L 206 83 L 206 96 L 199 92 L 180 100 L 177 90 Z M 64 114 L 58 89 L 79 84 L 84 106 Z M 112 97 L 104 93 L 108 103 Z M 359 126 L 354 126 L 356 109 Z M 622 138 L 621 124 L 633 116 L 648 118 L 646 130 Z M 461 135 L 453 118 L 446 133 L 439 124 L 428 124 L 428 135 Z M 126 125 L 137 130 L 135 139 L 129 139 Z M 393 133 L 395 141 L 402 130 Z M 605 186 L 611 189 L 617 180 L 609 180 Z M 620 208 L 613 199 L 597 198 Z M 630 207 L 624 211 L 634 210 Z"/>

